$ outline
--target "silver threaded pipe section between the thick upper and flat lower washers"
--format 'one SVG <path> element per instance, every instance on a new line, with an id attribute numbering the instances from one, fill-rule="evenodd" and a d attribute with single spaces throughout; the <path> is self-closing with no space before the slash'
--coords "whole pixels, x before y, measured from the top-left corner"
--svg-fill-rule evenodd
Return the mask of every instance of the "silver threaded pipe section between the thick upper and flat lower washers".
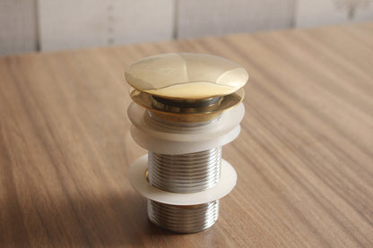
<path id="1" fill-rule="evenodd" d="M 149 183 L 167 192 L 201 192 L 221 176 L 221 147 L 180 155 L 148 154 Z"/>

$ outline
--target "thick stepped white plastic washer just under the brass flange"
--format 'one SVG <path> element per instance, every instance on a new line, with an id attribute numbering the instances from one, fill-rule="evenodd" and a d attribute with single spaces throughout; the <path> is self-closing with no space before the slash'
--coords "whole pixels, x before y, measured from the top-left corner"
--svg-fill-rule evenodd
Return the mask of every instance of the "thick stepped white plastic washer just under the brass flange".
<path id="1" fill-rule="evenodd" d="M 145 150 L 173 155 L 209 150 L 233 141 L 239 136 L 239 122 L 244 114 L 245 107 L 240 104 L 211 124 L 171 127 L 146 122 L 145 109 L 134 103 L 128 108 L 134 141 Z"/>

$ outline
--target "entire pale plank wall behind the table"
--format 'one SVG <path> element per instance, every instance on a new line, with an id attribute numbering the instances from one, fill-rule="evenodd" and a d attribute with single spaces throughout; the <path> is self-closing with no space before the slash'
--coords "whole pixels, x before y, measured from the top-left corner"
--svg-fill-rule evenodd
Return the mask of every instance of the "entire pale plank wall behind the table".
<path id="1" fill-rule="evenodd" d="M 369 20 L 373 0 L 0 0 L 0 55 Z"/>

